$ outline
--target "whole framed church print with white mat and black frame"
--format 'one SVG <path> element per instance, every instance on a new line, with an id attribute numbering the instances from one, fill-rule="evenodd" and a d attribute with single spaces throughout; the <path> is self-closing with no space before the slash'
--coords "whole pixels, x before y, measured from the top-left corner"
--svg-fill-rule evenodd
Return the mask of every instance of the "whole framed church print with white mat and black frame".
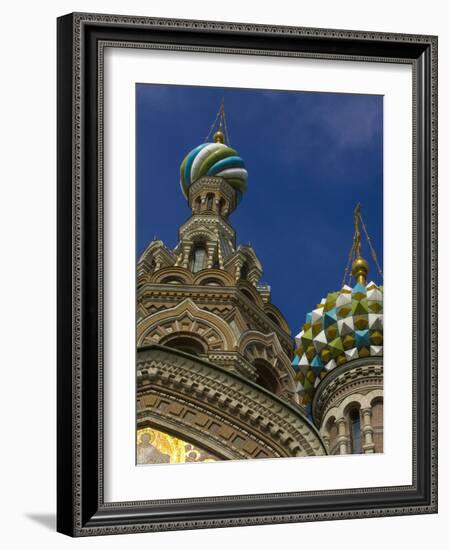
<path id="1" fill-rule="evenodd" d="M 58 19 L 58 530 L 437 511 L 437 38 Z"/>

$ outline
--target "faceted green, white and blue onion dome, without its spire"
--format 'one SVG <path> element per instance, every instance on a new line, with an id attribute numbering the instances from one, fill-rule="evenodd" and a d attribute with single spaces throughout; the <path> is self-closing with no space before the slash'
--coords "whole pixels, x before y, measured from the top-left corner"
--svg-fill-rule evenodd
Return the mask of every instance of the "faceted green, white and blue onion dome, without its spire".
<path id="1" fill-rule="evenodd" d="M 328 372 L 359 357 L 383 356 L 383 287 L 358 282 L 331 292 L 307 314 L 295 341 L 297 391 L 310 411 Z"/>

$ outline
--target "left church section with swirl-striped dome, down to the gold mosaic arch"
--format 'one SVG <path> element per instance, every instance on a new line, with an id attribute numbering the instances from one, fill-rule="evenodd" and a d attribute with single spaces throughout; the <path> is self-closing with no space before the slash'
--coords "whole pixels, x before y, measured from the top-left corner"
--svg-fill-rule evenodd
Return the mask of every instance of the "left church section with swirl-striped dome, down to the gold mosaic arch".
<path id="1" fill-rule="evenodd" d="M 324 454 L 299 404 L 288 324 L 230 223 L 248 173 L 223 103 L 212 131 L 181 163 L 191 216 L 178 244 L 150 242 L 137 265 L 138 462 Z M 175 448 L 189 449 L 183 460 Z"/>

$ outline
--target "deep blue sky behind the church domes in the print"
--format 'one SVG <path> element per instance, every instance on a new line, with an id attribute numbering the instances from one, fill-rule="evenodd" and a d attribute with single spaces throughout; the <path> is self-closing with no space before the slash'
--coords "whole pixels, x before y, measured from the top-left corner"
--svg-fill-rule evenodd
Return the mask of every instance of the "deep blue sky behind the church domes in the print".
<path id="1" fill-rule="evenodd" d="M 179 165 L 203 143 L 222 97 L 231 146 L 249 173 L 230 222 L 238 243 L 254 247 L 295 335 L 305 314 L 340 288 L 358 201 L 382 265 L 383 98 L 138 84 L 138 255 L 155 236 L 176 245 L 190 215 Z M 364 240 L 362 254 L 380 283 Z"/>

